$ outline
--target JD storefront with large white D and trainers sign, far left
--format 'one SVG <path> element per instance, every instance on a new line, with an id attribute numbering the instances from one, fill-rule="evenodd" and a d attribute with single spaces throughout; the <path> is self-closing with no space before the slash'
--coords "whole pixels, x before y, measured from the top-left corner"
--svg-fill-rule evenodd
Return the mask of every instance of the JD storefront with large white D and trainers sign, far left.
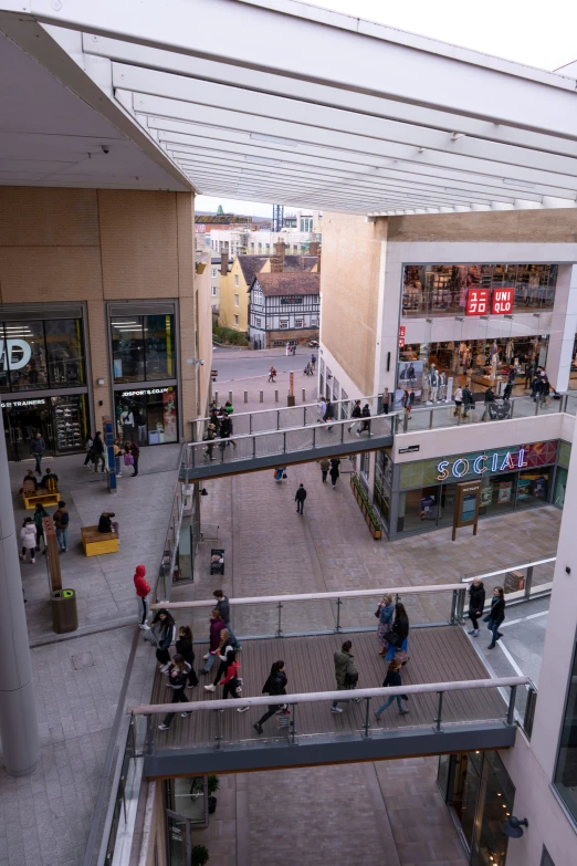
<path id="1" fill-rule="evenodd" d="M 82 451 L 90 429 L 84 307 L 0 307 L 0 394 L 9 460 L 41 432 L 52 455 Z"/>

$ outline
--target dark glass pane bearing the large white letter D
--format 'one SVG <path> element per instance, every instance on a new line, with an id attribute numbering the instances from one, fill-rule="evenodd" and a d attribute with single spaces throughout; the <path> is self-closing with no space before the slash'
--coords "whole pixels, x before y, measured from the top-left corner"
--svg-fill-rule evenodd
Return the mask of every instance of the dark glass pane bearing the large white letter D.
<path id="1" fill-rule="evenodd" d="M 7 322 L 4 324 L 3 367 L 10 371 L 11 390 L 48 388 L 44 323 Z"/>

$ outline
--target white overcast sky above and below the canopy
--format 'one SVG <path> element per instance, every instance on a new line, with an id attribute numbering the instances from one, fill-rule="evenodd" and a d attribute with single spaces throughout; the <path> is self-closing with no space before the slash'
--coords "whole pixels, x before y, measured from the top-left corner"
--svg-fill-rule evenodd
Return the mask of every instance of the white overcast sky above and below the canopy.
<path id="1" fill-rule="evenodd" d="M 265 3 L 264 3 L 265 4 Z M 486 54 L 556 70 L 577 60 L 576 0 L 316 0 L 311 6 L 378 21 Z M 306 59 L 303 59 L 306 63 Z M 197 208 L 270 216 L 270 205 L 200 196 Z"/>

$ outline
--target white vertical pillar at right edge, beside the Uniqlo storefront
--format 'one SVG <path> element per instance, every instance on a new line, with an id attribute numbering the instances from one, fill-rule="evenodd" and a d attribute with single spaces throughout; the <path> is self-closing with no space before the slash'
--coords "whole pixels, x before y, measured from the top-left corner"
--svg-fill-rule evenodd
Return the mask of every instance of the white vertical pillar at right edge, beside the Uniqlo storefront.
<path id="1" fill-rule="evenodd" d="M 553 306 L 547 374 L 558 392 L 567 390 L 577 331 L 577 264 L 559 264 Z"/>

